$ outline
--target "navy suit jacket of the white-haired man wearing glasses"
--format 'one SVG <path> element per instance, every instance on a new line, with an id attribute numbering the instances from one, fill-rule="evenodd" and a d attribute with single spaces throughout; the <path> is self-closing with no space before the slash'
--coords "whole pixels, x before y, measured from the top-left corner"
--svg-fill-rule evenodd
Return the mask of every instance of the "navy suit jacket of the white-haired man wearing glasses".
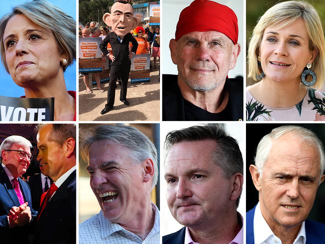
<path id="1" fill-rule="evenodd" d="M 32 218 L 37 214 L 31 206 L 31 196 L 28 184 L 22 179 L 18 178 L 19 187 L 22 192 L 23 198 L 28 202 Z M 5 173 L 0 161 L 0 241 L 1 243 L 11 243 L 12 240 L 16 243 L 28 243 L 29 224 L 22 227 L 9 228 L 7 214 L 11 207 L 19 206 L 19 200 L 14 191 L 14 188 Z"/>

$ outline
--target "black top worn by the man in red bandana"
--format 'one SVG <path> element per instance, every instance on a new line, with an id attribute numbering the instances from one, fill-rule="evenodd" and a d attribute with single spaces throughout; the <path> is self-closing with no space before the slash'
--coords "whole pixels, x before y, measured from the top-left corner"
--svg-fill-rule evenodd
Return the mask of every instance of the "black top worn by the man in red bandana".
<path id="1" fill-rule="evenodd" d="M 162 74 L 162 120 L 237 121 L 242 119 L 242 84 L 242 79 L 227 78 L 224 89 L 229 90 L 228 103 L 221 112 L 211 113 L 183 98 L 177 84 L 177 75 Z"/>

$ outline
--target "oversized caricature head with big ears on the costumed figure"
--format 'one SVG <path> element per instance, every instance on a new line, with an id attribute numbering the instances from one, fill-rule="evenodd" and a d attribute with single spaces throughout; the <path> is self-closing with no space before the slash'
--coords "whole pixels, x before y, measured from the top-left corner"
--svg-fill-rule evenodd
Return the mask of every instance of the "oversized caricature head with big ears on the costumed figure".
<path id="1" fill-rule="evenodd" d="M 133 16 L 132 5 L 126 1 L 115 2 L 111 6 L 110 13 L 106 12 L 102 20 L 119 37 L 123 37 L 129 33 L 138 23 L 137 18 Z"/>

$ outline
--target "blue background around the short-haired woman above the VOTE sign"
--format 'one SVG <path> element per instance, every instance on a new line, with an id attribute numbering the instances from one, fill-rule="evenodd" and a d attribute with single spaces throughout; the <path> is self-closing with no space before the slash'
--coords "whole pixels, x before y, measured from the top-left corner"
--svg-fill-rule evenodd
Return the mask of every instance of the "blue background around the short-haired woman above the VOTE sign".
<path id="1" fill-rule="evenodd" d="M 26 0 L 1 0 L 0 17 L 11 11 L 12 6 L 19 5 Z M 28 1 L 28 0 L 27 0 Z M 75 19 L 75 0 L 48 0 L 60 7 L 67 14 Z M 16 85 L 11 76 L 5 71 L 0 63 L 0 95 L 19 97 L 24 95 L 22 87 Z M 66 88 L 75 90 L 75 62 L 66 68 L 64 72 Z"/>

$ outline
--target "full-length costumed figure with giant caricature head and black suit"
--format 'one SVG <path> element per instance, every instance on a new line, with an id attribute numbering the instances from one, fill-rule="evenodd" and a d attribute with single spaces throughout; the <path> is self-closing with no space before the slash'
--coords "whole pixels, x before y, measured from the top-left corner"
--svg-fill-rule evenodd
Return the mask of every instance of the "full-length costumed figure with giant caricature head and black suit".
<path id="1" fill-rule="evenodd" d="M 112 32 L 109 32 L 102 40 L 99 47 L 102 53 L 112 61 L 109 71 L 109 86 L 107 93 L 107 103 L 105 108 L 101 110 L 101 114 L 105 114 L 113 108 L 115 100 L 115 88 L 117 77 L 121 77 L 122 85 L 119 95 L 119 100 L 125 105 L 129 105 L 126 100 L 127 80 L 130 72 L 130 59 L 135 54 L 137 49 L 137 41 L 130 33 L 138 23 L 136 17 L 133 16 L 133 7 L 126 1 L 116 1 L 111 6 L 111 13 L 106 12 L 102 19 L 111 27 Z M 132 43 L 132 50 L 129 53 L 129 42 Z M 113 54 L 107 51 L 107 44 L 110 43 Z"/>

